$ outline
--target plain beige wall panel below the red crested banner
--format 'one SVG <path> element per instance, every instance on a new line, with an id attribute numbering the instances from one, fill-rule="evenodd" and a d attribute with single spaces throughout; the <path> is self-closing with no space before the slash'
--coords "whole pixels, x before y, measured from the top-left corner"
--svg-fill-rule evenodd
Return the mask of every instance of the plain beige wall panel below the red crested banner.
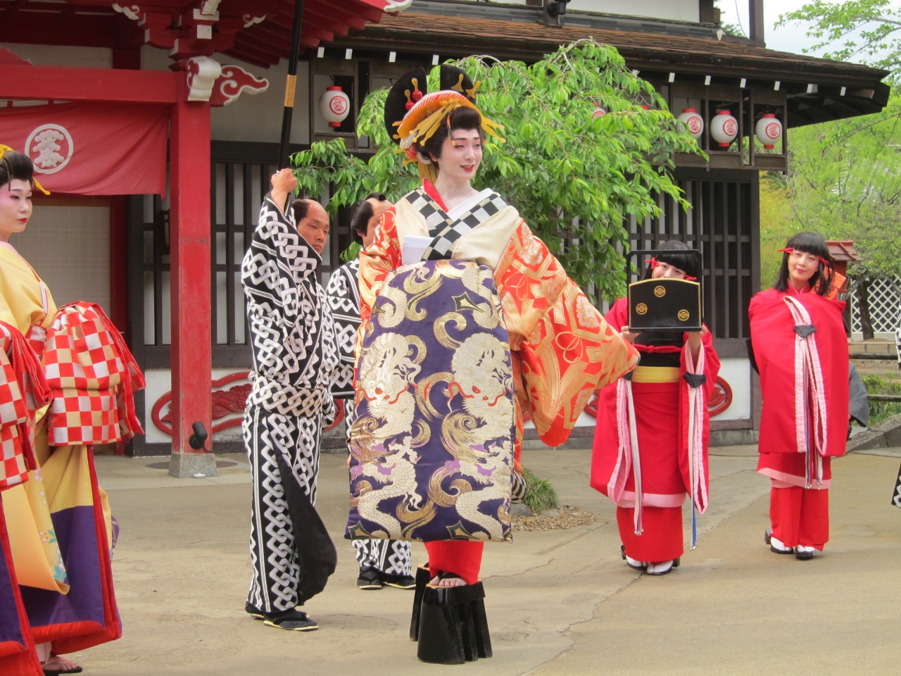
<path id="1" fill-rule="evenodd" d="M 36 206 L 9 241 L 50 288 L 57 306 L 76 300 L 110 313 L 108 206 Z"/>

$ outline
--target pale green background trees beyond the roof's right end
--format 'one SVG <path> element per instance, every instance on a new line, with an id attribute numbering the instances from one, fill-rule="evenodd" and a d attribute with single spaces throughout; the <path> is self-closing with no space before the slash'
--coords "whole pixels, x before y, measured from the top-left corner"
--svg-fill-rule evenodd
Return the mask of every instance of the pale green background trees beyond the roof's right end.
<path id="1" fill-rule="evenodd" d="M 783 14 L 778 25 L 809 23 L 807 35 L 819 40 L 805 51 L 834 46 L 827 59 L 862 59 L 901 73 L 901 9 L 889 0 L 815 0 Z M 901 274 L 901 97 L 892 96 L 878 114 L 815 124 L 793 132 L 789 171 L 781 185 L 761 192 L 761 251 L 772 264 L 778 234 L 815 230 L 830 239 L 851 239 L 864 260 L 851 266 L 856 281 L 864 338 L 873 337 L 869 286 L 873 279 Z M 777 184 L 780 183 L 777 181 Z M 787 210 L 766 206 L 786 199 Z M 784 242 L 785 240 L 782 239 Z M 781 246 L 781 245 L 780 245 Z"/>

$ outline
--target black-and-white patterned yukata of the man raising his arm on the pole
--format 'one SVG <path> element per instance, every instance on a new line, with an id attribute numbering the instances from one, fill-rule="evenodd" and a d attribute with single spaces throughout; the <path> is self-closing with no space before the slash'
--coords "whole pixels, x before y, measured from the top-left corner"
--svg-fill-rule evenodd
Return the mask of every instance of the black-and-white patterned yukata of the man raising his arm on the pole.
<path id="1" fill-rule="evenodd" d="M 248 601 L 264 613 L 303 605 L 334 570 L 333 563 L 328 570 L 329 553 L 304 549 L 332 546 L 312 508 L 320 434 L 323 421 L 334 417 L 330 389 L 338 366 L 332 313 L 318 279 L 321 265 L 297 233 L 293 210 L 283 213 L 266 196 L 241 264 L 253 352 L 243 420 L 253 483 Z M 292 476 L 283 476 L 279 465 Z M 305 542 L 307 523 L 295 523 L 292 495 L 309 500 L 302 507 L 319 526 L 313 540 Z M 309 576 L 316 574 L 320 580 L 312 583 Z"/>

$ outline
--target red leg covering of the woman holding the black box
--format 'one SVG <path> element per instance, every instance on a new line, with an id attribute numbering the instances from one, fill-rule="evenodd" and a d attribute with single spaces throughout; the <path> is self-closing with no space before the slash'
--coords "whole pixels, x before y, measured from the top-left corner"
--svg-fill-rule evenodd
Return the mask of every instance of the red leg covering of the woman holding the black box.
<path id="1" fill-rule="evenodd" d="M 616 507 L 625 553 L 636 561 L 660 563 L 685 553 L 682 507 L 644 507 L 644 532 L 635 534 L 634 507 Z"/>

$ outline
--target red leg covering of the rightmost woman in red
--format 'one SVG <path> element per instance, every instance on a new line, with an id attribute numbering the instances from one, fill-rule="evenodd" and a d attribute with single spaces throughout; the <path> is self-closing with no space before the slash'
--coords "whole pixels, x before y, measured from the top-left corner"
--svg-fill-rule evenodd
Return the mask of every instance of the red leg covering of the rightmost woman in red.
<path id="1" fill-rule="evenodd" d="M 770 489 L 769 521 L 773 535 L 787 547 L 803 544 L 822 551 L 829 542 L 829 491 Z"/>

